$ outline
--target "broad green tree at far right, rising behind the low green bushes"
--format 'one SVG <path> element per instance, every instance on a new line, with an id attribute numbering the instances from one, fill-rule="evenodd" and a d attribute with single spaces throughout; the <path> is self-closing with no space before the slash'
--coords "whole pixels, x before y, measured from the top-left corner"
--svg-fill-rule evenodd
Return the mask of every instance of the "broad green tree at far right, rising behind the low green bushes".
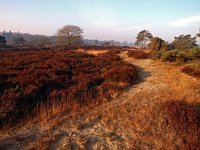
<path id="1" fill-rule="evenodd" d="M 191 37 L 190 34 L 180 35 L 179 37 L 174 37 L 172 45 L 174 49 L 178 50 L 194 48 L 196 46 L 196 37 Z"/>

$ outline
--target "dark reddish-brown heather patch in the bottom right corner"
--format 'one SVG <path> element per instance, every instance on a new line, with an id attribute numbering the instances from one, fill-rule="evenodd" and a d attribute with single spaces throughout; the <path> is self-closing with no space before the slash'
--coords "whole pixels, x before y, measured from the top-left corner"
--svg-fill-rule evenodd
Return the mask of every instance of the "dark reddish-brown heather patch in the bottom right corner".
<path id="1" fill-rule="evenodd" d="M 200 105 L 188 104 L 184 101 L 171 101 L 164 105 L 166 123 L 182 139 L 181 149 L 200 147 Z"/>

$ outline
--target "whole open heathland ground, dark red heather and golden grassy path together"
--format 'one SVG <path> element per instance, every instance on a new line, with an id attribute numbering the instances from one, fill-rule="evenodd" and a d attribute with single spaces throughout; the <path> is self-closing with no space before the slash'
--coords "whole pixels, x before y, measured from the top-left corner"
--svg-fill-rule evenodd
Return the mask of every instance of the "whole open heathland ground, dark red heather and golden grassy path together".
<path id="1" fill-rule="evenodd" d="M 199 78 L 139 53 L 2 51 L 0 149 L 198 149 Z"/>

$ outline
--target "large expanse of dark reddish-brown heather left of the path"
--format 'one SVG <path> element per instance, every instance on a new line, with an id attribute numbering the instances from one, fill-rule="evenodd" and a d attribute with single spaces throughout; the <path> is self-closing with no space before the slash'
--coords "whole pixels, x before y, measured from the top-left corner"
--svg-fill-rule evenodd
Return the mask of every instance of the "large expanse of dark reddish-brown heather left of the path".
<path id="1" fill-rule="evenodd" d="M 134 66 L 112 54 L 2 51 L 0 59 L 0 125 L 40 115 L 45 107 L 56 106 L 60 113 L 100 104 L 137 76 Z"/>

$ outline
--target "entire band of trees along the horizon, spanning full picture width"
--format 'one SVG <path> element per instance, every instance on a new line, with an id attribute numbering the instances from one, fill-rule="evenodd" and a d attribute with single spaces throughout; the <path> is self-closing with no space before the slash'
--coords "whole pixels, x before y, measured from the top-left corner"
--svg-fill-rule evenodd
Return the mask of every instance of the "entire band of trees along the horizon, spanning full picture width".
<path id="1" fill-rule="evenodd" d="M 192 37 L 190 34 L 180 35 L 178 37 L 174 37 L 173 42 L 169 43 L 160 37 L 153 37 L 153 35 L 148 30 L 142 30 L 137 34 L 135 45 L 141 47 L 149 47 L 152 50 L 190 49 L 197 46 L 197 37 L 200 37 L 200 33 L 197 33 L 195 37 Z M 83 39 L 83 29 L 77 25 L 65 25 L 58 29 L 54 36 L 44 36 L 38 34 L 32 35 L 29 33 L 3 31 L 0 33 L 0 46 L 5 47 L 6 44 L 17 47 L 33 46 L 38 48 L 50 47 L 52 45 L 60 47 L 83 45 L 134 46 L 128 42 Z"/>

